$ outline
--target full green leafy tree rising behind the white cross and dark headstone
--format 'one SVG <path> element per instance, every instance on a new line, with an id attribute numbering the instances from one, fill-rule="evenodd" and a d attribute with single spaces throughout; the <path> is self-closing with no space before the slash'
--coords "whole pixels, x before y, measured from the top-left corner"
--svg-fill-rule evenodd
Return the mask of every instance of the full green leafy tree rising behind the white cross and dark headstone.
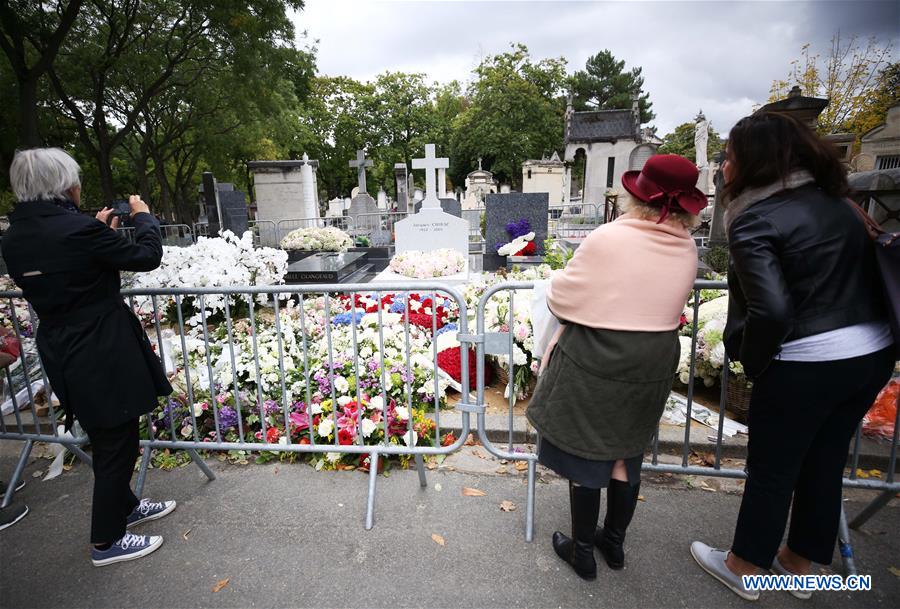
<path id="1" fill-rule="evenodd" d="M 565 67 L 561 57 L 533 61 L 525 45 L 514 44 L 475 68 L 468 106 L 453 120 L 455 182 L 481 157 L 498 179 L 518 186 L 523 161 L 562 147 Z"/>

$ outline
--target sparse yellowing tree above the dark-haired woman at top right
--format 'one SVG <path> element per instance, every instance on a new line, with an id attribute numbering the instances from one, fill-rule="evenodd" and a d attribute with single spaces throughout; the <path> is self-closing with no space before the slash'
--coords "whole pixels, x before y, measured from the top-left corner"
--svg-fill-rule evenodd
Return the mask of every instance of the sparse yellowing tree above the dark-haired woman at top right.
<path id="1" fill-rule="evenodd" d="M 819 115 L 820 133 L 850 131 L 861 135 L 864 131 L 858 129 L 871 123 L 864 117 L 871 116 L 879 75 L 890 65 L 892 52 L 890 43 L 881 45 L 875 37 L 863 44 L 855 35 L 844 41 L 837 33 L 831 39 L 828 56 L 820 63 L 821 56 L 805 44 L 800 58 L 791 62 L 790 74 L 772 82 L 769 101 L 784 99 L 794 85 L 799 85 L 803 95 L 829 100 Z"/>

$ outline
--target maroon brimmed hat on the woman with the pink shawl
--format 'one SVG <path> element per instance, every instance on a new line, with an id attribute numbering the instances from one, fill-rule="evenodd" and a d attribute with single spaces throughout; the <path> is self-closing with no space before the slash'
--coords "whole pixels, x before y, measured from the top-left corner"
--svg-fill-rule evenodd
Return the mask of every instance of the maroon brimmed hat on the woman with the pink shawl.
<path id="1" fill-rule="evenodd" d="M 650 157 L 640 171 L 626 171 L 622 186 L 635 198 L 662 207 L 660 221 L 671 211 L 697 215 L 707 205 L 706 195 L 697 188 L 700 171 L 677 154 Z"/>

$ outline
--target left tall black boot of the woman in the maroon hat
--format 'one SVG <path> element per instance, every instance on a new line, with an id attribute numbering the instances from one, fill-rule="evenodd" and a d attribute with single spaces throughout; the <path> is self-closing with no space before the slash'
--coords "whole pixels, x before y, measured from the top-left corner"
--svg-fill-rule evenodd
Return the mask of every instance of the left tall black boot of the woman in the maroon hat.
<path id="1" fill-rule="evenodd" d="M 572 537 L 556 531 L 553 533 L 553 549 L 560 558 L 572 565 L 578 577 L 597 579 L 593 537 L 597 518 L 600 516 L 599 489 L 575 486 L 570 482 L 569 510 L 572 513 Z"/>

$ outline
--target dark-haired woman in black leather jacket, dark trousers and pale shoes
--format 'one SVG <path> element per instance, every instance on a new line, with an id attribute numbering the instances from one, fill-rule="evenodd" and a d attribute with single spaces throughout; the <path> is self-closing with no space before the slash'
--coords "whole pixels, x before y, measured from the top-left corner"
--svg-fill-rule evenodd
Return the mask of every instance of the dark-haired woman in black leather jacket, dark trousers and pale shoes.
<path id="1" fill-rule="evenodd" d="M 831 563 L 850 439 L 895 349 L 874 246 L 831 145 L 789 116 L 761 112 L 731 130 L 723 171 L 725 345 L 753 380 L 747 484 L 731 551 L 694 542 L 691 553 L 754 599 L 741 575 Z"/>

